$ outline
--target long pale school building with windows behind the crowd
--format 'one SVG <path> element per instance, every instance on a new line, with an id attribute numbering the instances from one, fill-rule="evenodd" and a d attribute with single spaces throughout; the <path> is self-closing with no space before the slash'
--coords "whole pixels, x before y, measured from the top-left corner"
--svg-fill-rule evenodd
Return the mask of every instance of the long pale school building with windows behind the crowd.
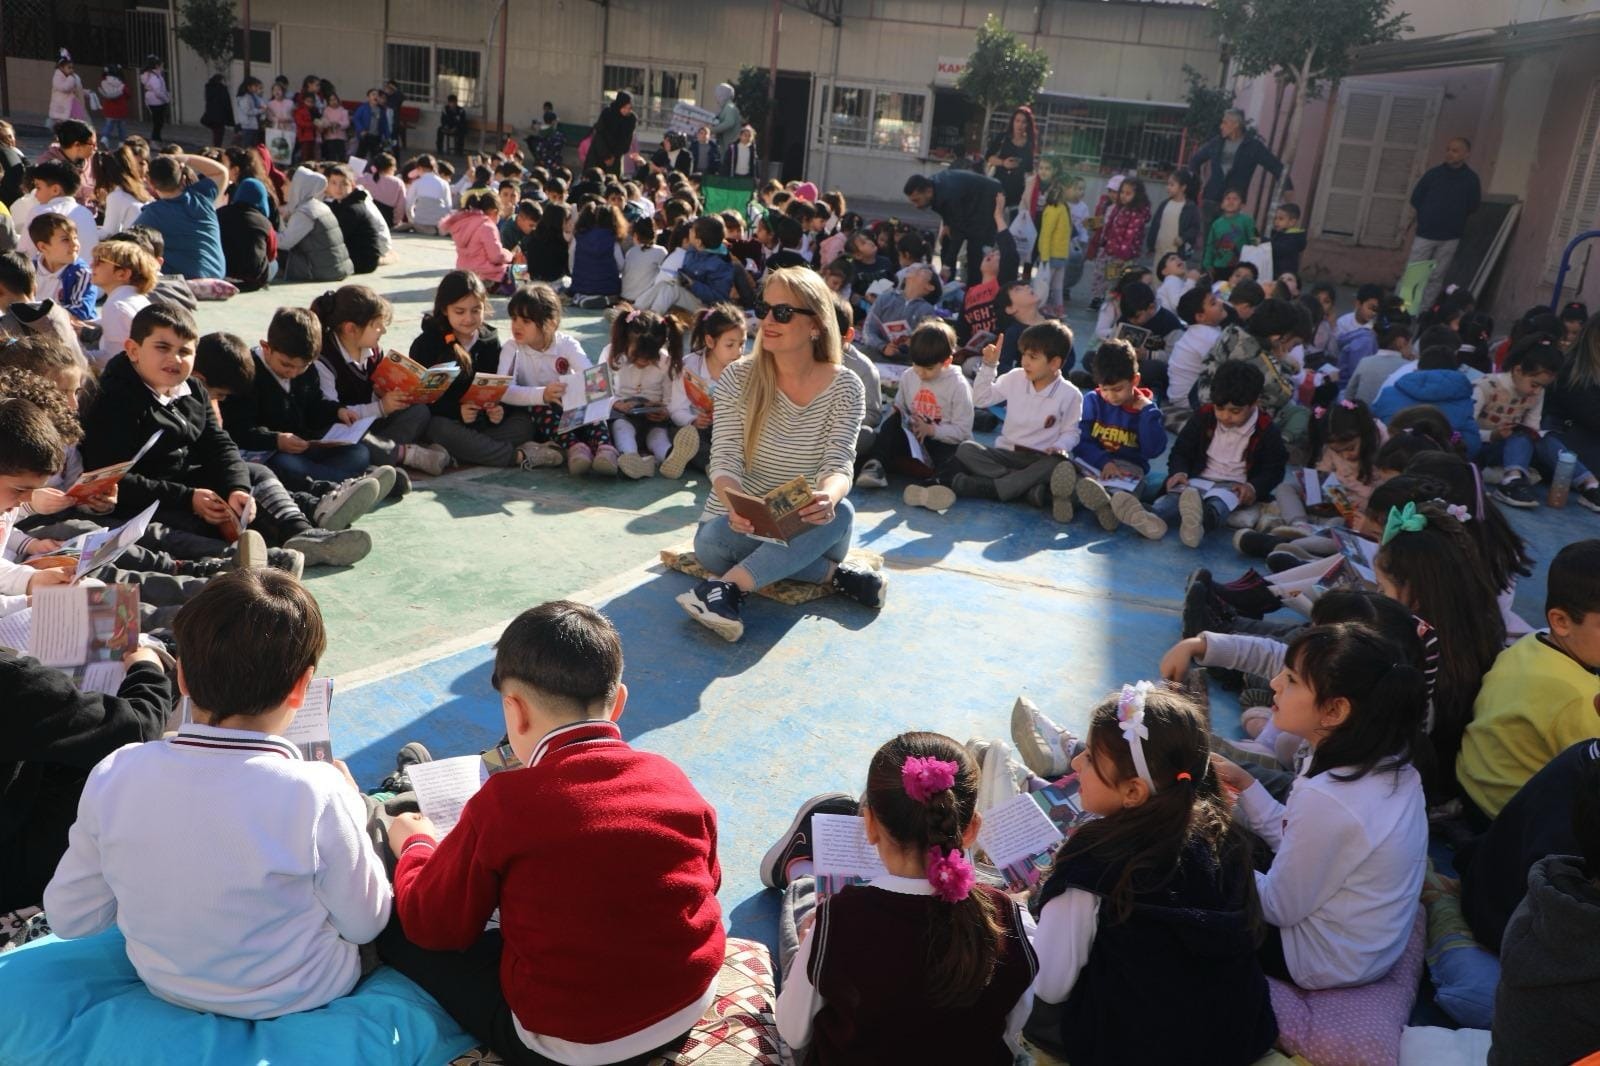
<path id="1" fill-rule="evenodd" d="M 59 24 L 67 13 L 56 0 L 5 0 L 8 11 L 32 14 L 37 26 L 30 54 L 10 61 L 13 107 L 45 110 L 59 40 L 85 42 L 69 46 L 85 53 L 75 58 L 93 88 L 93 64 L 117 51 L 109 38 L 123 26 L 115 58 L 136 64 L 149 51 L 176 56 L 168 64 L 176 118 L 197 122 L 210 70 L 176 43 L 178 0 L 134 3 L 70 5 L 74 18 L 98 21 L 90 32 L 88 24 Z M 37 11 L 24 13 L 29 5 Z M 421 109 L 413 147 L 432 146 L 450 93 L 493 125 L 504 38 L 507 126 L 526 133 L 542 101 L 555 104 L 563 123 L 589 126 L 610 94 L 626 88 L 638 101 L 646 154 L 678 101 L 712 107 L 715 86 L 733 82 L 739 67 L 771 66 L 776 18 L 776 110 L 762 157 L 776 162 L 782 178 L 882 198 L 898 198 L 909 174 L 942 166 L 978 142 L 982 110 L 955 90 L 955 78 L 990 11 L 1050 54 L 1051 74 L 1037 101 L 1045 149 L 1090 178 L 1126 165 L 1152 181 L 1163 178 L 1186 149 L 1184 66 L 1221 77 L 1202 0 L 512 0 L 504 34 L 498 0 L 250 6 L 254 74 L 266 82 L 285 74 L 296 88 L 317 74 L 347 99 L 392 77 Z M 59 26 L 51 32 L 53 19 Z M 237 51 L 243 48 L 240 35 Z M 235 59 L 230 91 L 240 75 Z"/>

